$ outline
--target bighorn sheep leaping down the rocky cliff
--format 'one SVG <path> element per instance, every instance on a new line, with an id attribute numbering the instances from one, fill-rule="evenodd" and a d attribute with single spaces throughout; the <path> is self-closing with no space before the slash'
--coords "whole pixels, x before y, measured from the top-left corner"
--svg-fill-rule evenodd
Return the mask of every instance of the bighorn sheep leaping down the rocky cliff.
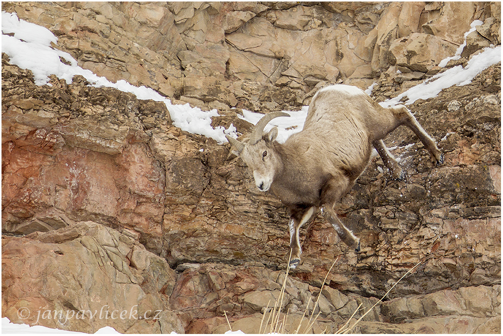
<path id="1" fill-rule="evenodd" d="M 370 161 L 372 146 L 395 179 L 402 170 L 382 139 L 400 125 L 409 127 L 425 145 L 437 165 L 444 157 L 435 141 L 403 105 L 384 108 L 361 89 L 330 85 L 312 98 L 301 132 L 284 144 L 275 141 L 275 127 L 263 134 L 272 119 L 289 117 L 282 112 L 265 115 L 249 139 L 239 142 L 227 136 L 234 154 L 253 172 L 262 191 L 271 189 L 290 212 L 291 267 L 300 262 L 299 228 L 315 215 L 322 216 L 350 248 L 360 251 L 357 238 L 337 217 L 341 198 Z"/>

